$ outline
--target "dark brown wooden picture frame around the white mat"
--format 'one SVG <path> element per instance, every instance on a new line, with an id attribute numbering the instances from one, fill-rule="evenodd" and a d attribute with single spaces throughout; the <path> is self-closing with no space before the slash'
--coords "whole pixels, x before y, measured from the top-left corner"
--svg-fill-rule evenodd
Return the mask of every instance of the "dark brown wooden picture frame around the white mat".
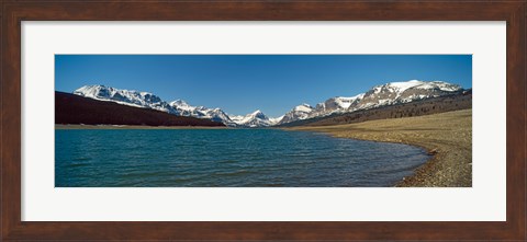
<path id="1" fill-rule="evenodd" d="M 517 240 L 526 235 L 526 10 L 513 1 L 3 0 L 1 239 L 15 240 Z M 21 221 L 21 21 L 506 21 L 505 222 Z"/>

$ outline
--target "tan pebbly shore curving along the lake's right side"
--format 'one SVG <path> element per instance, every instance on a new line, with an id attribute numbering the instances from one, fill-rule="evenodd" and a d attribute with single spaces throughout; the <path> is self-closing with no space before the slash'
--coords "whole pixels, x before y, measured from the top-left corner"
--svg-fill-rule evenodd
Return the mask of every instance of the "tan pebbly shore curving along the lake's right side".
<path id="1" fill-rule="evenodd" d="M 400 187 L 472 186 L 472 110 L 417 117 L 370 120 L 334 126 L 299 126 L 284 130 L 317 131 L 337 138 L 395 142 L 425 149 L 433 157 Z"/>

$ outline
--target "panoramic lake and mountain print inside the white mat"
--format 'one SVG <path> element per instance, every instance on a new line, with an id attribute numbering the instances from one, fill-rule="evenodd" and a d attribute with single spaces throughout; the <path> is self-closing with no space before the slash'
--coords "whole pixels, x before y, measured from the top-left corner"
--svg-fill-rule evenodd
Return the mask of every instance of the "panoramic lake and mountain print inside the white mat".
<path id="1" fill-rule="evenodd" d="M 56 55 L 56 187 L 471 187 L 471 55 Z"/>

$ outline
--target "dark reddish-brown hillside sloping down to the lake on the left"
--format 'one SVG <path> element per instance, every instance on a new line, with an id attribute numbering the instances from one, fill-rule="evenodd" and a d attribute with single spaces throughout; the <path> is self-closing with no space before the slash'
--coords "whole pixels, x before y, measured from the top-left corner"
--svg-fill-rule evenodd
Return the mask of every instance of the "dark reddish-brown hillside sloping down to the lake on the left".
<path id="1" fill-rule="evenodd" d="M 55 124 L 225 126 L 209 119 L 176 116 L 161 111 L 98 101 L 64 92 L 55 92 Z"/>

